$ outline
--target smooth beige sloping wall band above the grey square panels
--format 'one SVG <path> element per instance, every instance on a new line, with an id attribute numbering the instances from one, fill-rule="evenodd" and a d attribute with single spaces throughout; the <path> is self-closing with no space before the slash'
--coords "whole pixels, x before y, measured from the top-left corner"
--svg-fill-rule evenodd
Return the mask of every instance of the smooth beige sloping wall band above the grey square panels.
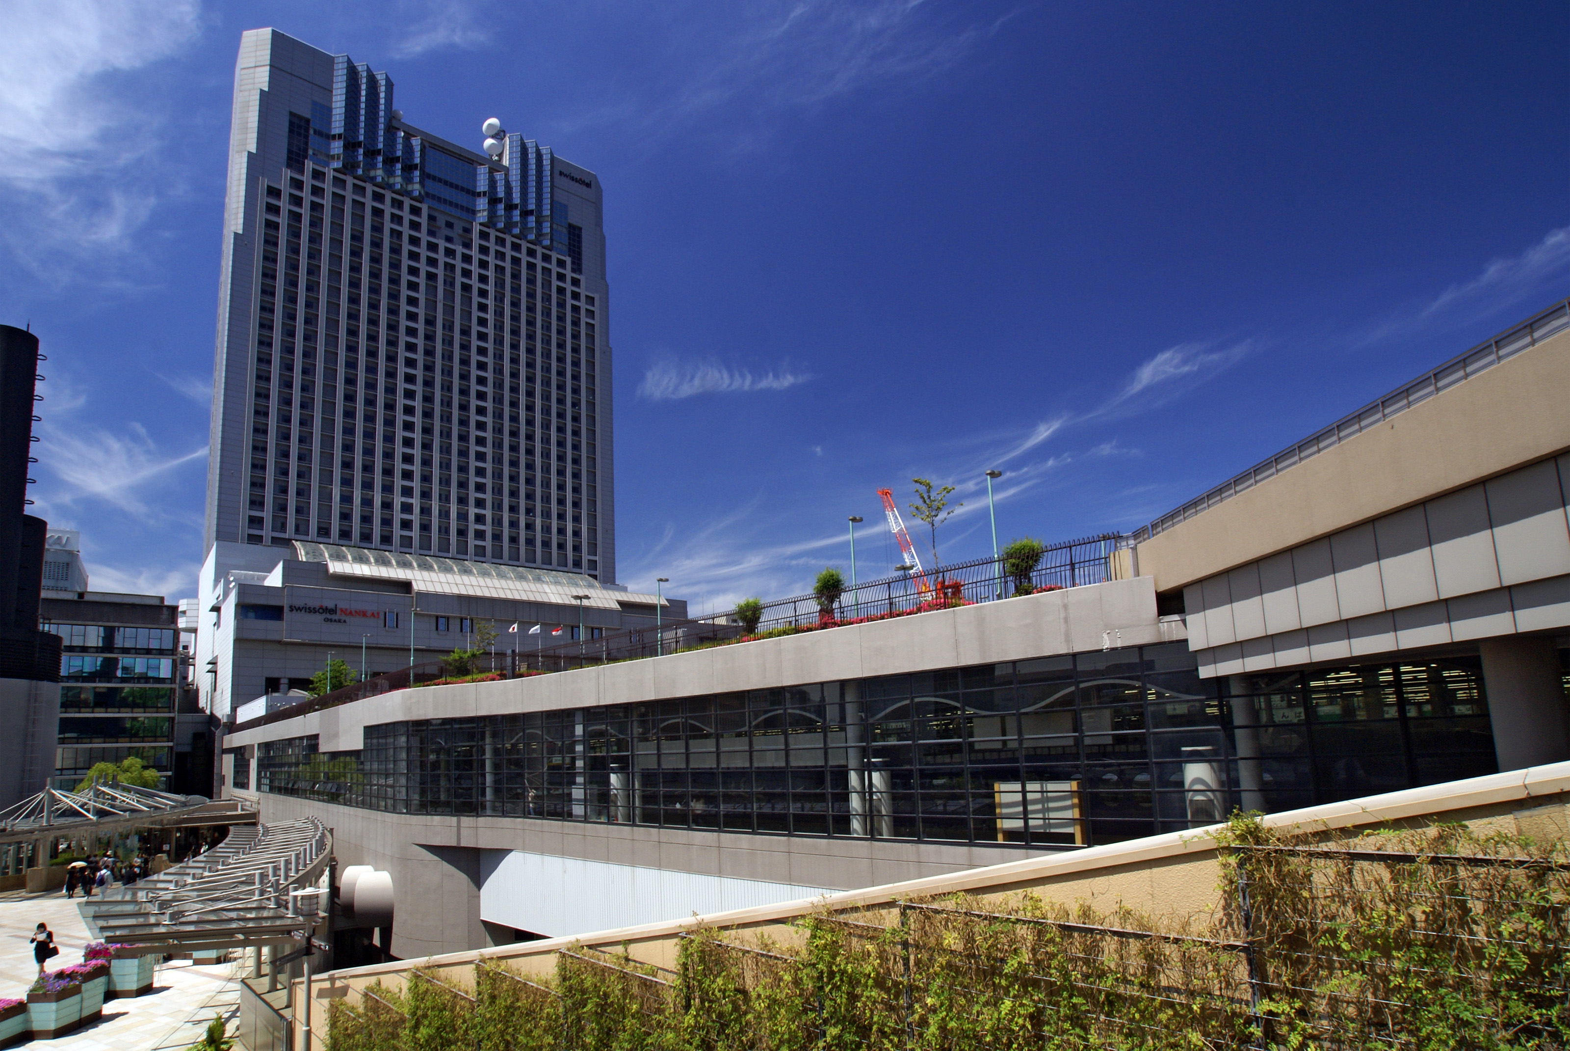
<path id="1" fill-rule="evenodd" d="M 1140 545 L 1157 591 L 1570 449 L 1570 331 Z"/>

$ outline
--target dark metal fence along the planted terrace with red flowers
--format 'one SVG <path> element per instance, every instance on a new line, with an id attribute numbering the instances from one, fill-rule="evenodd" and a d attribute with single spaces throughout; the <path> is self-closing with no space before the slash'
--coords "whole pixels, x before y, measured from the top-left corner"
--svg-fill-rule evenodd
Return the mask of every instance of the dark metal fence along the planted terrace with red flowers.
<path id="1" fill-rule="evenodd" d="M 923 589 L 912 577 L 896 573 L 867 583 L 857 583 L 840 592 L 832 606 L 824 606 L 816 595 L 794 595 L 763 603 L 757 633 L 790 630 L 818 630 L 882 621 L 959 605 L 1010 599 L 1019 584 L 1031 591 L 1055 591 L 1099 584 L 1116 577 L 1113 559 L 1124 547 L 1121 537 L 1107 533 L 1079 540 L 1049 545 L 1036 567 L 1027 575 L 1000 572 L 1003 567 L 992 558 L 978 558 L 951 566 L 939 566 L 926 573 Z M 521 632 L 523 628 L 520 628 Z M 570 627 L 564 632 L 571 630 Z M 706 649 L 741 639 L 743 627 L 735 611 L 719 613 L 703 619 L 667 621 L 656 630 L 653 625 L 606 632 L 598 638 L 581 638 L 543 646 L 543 638 L 521 633 L 504 635 L 509 649 L 479 654 L 469 658 L 452 655 L 421 661 L 364 682 L 355 682 L 309 701 L 290 704 L 268 712 L 231 729 L 267 726 L 292 720 L 311 712 L 338 707 L 394 690 L 436 685 L 443 682 L 476 680 L 484 677 L 518 679 L 545 672 L 573 671 L 593 665 L 611 665 L 645 657 L 681 654 Z M 529 639 L 535 646 L 529 647 Z M 517 639 L 517 641 L 512 641 Z M 498 639 L 501 643 L 501 639 Z M 517 647 L 517 649 L 512 649 Z"/>

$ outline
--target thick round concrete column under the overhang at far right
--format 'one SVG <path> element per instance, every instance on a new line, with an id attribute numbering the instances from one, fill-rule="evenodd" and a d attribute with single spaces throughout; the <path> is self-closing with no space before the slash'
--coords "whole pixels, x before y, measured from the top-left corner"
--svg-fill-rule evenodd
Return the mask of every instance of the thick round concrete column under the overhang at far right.
<path id="1" fill-rule="evenodd" d="M 1570 709 L 1551 638 L 1484 639 L 1482 680 L 1499 770 L 1570 759 Z"/>

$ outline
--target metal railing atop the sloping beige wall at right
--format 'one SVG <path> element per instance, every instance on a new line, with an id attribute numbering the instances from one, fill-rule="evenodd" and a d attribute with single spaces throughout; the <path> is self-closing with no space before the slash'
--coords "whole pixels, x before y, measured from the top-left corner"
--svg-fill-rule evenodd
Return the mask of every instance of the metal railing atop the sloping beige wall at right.
<path id="1" fill-rule="evenodd" d="M 1400 415 L 1408 408 L 1426 402 L 1435 394 L 1492 369 L 1521 350 L 1537 346 L 1539 341 L 1564 331 L 1567 327 L 1570 327 L 1570 302 L 1562 300 L 1509 331 L 1504 331 L 1487 342 L 1477 344 L 1465 353 L 1455 355 L 1444 364 L 1424 372 L 1410 383 L 1405 383 L 1389 394 L 1369 402 L 1363 408 L 1347 413 L 1336 423 L 1324 427 L 1317 434 L 1309 435 L 1303 441 L 1276 452 L 1267 460 L 1261 460 L 1247 471 L 1221 482 L 1210 492 L 1195 496 L 1182 507 L 1170 511 L 1149 525 L 1135 529 L 1129 534 L 1129 540 L 1134 544 L 1143 544 L 1152 536 L 1165 533 L 1174 525 L 1187 522 L 1196 514 L 1209 511 L 1210 507 L 1231 500 L 1237 493 L 1253 489 L 1267 478 L 1275 478 L 1281 471 L 1291 470 L 1303 460 L 1308 460 L 1309 457 L 1314 457 L 1325 449 L 1345 441 L 1347 438 L 1356 437 L 1371 427 L 1377 427 L 1391 416 Z"/>

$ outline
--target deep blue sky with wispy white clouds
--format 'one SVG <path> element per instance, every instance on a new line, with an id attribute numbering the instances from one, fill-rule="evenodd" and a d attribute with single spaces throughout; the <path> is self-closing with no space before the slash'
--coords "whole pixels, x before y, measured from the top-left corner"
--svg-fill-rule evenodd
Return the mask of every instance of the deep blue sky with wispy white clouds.
<path id="1" fill-rule="evenodd" d="M 38 512 L 195 592 L 239 35 L 597 171 L 619 577 L 694 611 L 1132 529 L 1570 292 L 1561 3 L 0 2 Z M 901 504 L 904 501 L 901 500 Z"/>

